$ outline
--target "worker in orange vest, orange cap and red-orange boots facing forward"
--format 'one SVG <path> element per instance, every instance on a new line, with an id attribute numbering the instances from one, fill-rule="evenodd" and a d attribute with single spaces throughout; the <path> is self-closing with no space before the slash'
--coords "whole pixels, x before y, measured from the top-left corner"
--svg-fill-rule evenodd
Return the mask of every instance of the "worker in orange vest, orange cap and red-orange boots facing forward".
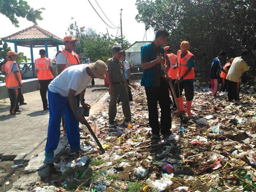
<path id="1" fill-rule="evenodd" d="M 174 90 L 177 95 L 178 107 L 182 112 L 185 111 L 182 98 L 182 91 L 184 89 L 187 103 L 187 116 L 191 117 L 191 106 L 194 98 L 193 80 L 195 78 L 195 56 L 189 51 L 189 48 L 189 42 L 181 42 L 181 50 L 178 50 L 177 53 L 177 64 L 173 66 L 173 69 L 177 69 L 177 78 Z M 177 114 L 179 112 L 174 111 L 174 113 Z"/>

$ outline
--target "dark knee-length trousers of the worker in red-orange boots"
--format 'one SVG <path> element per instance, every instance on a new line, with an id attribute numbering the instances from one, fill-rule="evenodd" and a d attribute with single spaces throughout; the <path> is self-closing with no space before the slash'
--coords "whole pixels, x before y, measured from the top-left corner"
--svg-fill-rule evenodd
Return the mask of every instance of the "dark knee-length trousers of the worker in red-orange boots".
<path id="1" fill-rule="evenodd" d="M 193 81 L 182 81 L 174 86 L 176 97 L 182 97 L 182 91 L 185 90 L 185 97 L 187 101 L 194 99 L 194 85 Z"/>

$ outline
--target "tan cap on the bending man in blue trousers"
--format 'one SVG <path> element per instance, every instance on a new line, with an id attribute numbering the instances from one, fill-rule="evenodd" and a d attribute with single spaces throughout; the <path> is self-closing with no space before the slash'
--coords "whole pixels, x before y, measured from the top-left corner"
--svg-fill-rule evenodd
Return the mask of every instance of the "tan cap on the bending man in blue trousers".
<path id="1" fill-rule="evenodd" d="M 95 63 L 90 63 L 89 68 L 95 77 L 105 79 L 105 73 L 107 72 L 107 65 L 105 62 L 97 60 Z"/>

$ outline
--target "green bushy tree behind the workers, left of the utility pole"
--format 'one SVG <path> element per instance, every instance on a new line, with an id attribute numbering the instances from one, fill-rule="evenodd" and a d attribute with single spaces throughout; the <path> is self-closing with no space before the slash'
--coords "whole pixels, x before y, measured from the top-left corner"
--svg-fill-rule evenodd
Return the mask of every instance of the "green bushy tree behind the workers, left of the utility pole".
<path id="1" fill-rule="evenodd" d="M 68 29 L 69 33 L 75 38 L 79 39 L 75 52 L 79 55 L 83 55 L 90 60 L 107 61 L 112 57 L 112 47 L 114 45 L 120 45 L 123 40 L 123 49 L 127 49 L 129 42 L 124 38 L 113 37 L 113 35 L 97 34 L 95 30 L 85 27 L 78 27 L 77 22 L 71 23 Z"/>

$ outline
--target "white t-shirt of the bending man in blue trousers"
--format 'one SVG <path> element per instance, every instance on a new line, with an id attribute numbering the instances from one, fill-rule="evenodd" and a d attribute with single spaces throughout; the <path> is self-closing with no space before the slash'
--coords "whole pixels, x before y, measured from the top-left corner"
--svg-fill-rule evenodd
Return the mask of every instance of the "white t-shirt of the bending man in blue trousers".
<path id="1" fill-rule="evenodd" d="M 77 91 L 75 95 L 78 95 L 91 83 L 91 77 L 86 71 L 87 66 L 87 64 L 74 65 L 63 70 L 57 78 L 51 81 L 49 90 L 67 97 L 69 89 L 73 89 Z"/>

